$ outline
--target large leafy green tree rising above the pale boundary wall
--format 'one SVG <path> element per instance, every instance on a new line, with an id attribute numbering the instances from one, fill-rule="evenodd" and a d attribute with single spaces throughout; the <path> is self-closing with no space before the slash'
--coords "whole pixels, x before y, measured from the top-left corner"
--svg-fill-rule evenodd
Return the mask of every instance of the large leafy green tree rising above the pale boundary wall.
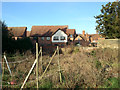
<path id="1" fill-rule="evenodd" d="M 102 5 L 101 14 L 95 18 L 99 34 L 109 39 L 120 38 L 120 2 Z"/>

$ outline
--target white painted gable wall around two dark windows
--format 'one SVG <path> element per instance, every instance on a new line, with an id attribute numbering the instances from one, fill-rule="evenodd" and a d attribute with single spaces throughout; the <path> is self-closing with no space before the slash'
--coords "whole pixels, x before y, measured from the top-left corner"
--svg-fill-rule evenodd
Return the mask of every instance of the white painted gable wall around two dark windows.
<path id="1" fill-rule="evenodd" d="M 59 37 L 59 40 L 53 40 L 54 36 L 58 36 Z M 60 36 L 64 36 L 65 37 L 65 40 L 60 40 Z M 59 43 L 59 42 L 67 42 L 67 34 L 65 34 L 63 31 L 61 30 L 58 30 L 53 36 L 52 36 L 52 42 L 56 42 L 56 43 Z"/>

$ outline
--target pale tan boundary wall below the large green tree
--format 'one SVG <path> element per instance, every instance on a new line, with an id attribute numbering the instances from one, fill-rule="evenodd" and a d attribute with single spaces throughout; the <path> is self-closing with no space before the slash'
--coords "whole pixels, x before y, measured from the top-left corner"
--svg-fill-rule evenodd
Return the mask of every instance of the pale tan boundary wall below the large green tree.
<path id="1" fill-rule="evenodd" d="M 119 48 L 120 47 L 120 39 L 105 39 L 98 40 L 97 47 L 101 48 Z"/>

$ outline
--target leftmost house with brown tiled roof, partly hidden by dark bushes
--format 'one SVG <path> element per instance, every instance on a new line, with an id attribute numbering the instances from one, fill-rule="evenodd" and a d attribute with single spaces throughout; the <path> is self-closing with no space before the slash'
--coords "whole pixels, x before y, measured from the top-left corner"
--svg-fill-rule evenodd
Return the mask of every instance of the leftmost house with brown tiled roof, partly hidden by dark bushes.
<path id="1" fill-rule="evenodd" d="M 26 37 L 27 27 L 8 27 L 8 30 L 15 40 Z"/>

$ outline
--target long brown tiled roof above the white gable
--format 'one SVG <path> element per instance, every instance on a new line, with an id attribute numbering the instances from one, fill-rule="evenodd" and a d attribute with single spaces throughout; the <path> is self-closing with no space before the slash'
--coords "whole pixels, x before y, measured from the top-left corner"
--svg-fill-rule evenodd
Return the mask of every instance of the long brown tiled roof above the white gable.
<path id="1" fill-rule="evenodd" d="M 65 30 L 68 26 L 32 26 L 30 36 L 52 36 L 58 29 Z"/>

